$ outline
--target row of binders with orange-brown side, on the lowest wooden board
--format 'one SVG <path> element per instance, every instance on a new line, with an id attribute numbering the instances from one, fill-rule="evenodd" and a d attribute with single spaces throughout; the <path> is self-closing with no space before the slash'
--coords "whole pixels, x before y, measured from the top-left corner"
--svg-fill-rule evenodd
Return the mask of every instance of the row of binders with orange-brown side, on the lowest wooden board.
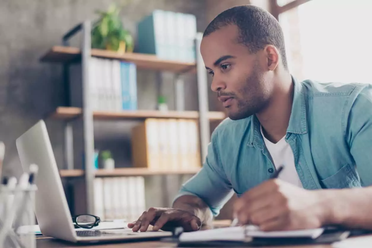
<path id="1" fill-rule="evenodd" d="M 198 123 L 188 119 L 146 119 L 132 129 L 134 167 L 154 171 L 201 168 Z"/>

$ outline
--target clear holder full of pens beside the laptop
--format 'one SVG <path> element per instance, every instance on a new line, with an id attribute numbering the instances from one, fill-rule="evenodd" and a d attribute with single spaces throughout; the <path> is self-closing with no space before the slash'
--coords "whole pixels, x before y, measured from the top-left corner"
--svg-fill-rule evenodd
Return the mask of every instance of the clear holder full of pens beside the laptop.
<path id="1" fill-rule="evenodd" d="M 35 248 L 35 191 L 37 165 L 30 166 L 18 183 L 14 177 L 3 179 L 0 186 L 0 247 Z"/>

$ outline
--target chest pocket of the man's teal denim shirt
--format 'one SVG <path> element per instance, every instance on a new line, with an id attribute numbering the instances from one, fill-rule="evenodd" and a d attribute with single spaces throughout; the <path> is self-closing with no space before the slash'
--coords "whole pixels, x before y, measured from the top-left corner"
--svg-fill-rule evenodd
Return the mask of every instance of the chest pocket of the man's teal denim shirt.
<path id="1" fill-rule="evenodd" d="M 344 165 L 335 174 L 321 180 L 325 189 L 343 189 L 362 187 L 360 179 L 349 164 Z"/>

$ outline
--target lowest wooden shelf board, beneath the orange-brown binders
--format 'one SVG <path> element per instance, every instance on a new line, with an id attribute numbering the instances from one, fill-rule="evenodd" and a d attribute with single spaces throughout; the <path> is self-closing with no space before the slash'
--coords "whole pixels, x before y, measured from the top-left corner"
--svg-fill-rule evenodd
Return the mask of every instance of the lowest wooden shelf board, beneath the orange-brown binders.
<path id="1" fill-rule="evenodd" d="M 99 169 L 96 171 L 96 177 L 112 177 L 112 176 L 132 176 L 132 175 L 171 175 L 171 174 L 195 174 L 200 168 L 193 168 L 183 171 L 155 171 L 148 168 L 116 168 L 115 170 Z M 83 170 L 60 170 L 61 177 L 82 177 Z"/>

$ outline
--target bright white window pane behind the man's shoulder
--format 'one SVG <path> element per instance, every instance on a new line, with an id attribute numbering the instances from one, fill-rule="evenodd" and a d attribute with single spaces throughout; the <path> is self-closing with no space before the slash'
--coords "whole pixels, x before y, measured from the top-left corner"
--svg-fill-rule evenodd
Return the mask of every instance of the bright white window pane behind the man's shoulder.
<path id="1" fill-rule="evenodd" d="M 372 83 L 371 13 L 372 1 L 312 0 L 280 14 L 291 73 Z"/>

